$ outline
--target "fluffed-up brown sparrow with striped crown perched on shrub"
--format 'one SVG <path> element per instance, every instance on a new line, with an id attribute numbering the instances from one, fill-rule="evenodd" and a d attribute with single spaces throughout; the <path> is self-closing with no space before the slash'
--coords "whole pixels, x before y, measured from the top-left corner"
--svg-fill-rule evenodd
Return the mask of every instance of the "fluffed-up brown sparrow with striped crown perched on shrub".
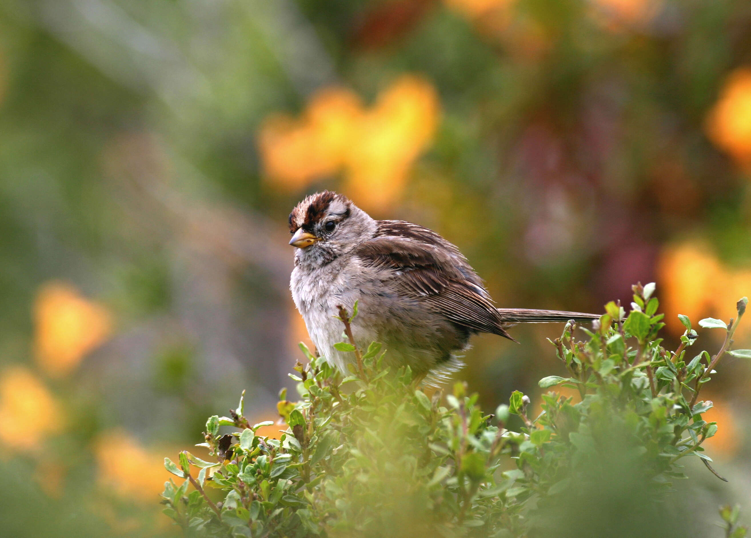
<path id="1" fill-rule="evenodd" d="M 358 314 L 355 344 L 383 344 L 385 362 L 409 365 L 416 377 L 438 382 L 463 363 L 469 338 L 490 332 L 511 338 L 515 323 L 579 322 L 597 314 L 496 308 L 459 249 L 426 227 L 376 221 L 342 194 L 306 197 L 289 215 L 296 248 L 290 289 L 318 353 L 347 372 L 352 353 L 342 341 L 339 305 Z"/>

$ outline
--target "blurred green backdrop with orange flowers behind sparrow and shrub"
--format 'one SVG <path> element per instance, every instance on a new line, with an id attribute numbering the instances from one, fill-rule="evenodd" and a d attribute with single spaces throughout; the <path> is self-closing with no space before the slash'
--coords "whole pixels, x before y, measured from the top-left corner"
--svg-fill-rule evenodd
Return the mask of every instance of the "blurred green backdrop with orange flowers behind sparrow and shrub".
<path id="1" fill-rule="evenodd" d="M 749 181 L 743 0 L 0 0 L 4 535 L 173 535 L 164 455 L 292 386 L 306 194 L 439 231 L 502 306 L 656 281 L 674 342 L 751 295 Z M 457 377 L 535 394 L 559 329 Z M 751 371 L 721 370 L 711 509 L 751 491 Z"/>

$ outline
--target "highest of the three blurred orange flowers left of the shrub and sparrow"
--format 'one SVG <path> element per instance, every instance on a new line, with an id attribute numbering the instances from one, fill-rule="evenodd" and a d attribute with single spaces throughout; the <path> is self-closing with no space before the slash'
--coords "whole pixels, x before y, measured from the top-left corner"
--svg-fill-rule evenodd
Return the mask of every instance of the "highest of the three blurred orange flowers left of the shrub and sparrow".
<path id="1" fill-rule="evenodd" d="M 69 374 L 110 335 L 110 313 L 62 282 L 45 284 L 34 310 L 36 359 L 55 377 Z"/>

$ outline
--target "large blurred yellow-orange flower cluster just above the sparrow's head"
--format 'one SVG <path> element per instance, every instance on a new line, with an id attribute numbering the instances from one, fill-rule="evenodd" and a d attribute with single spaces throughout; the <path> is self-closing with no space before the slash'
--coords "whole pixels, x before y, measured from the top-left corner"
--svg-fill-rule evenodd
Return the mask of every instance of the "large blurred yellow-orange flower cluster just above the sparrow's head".
<path id="1" fill-rule="evenodd" d="M 419 77 L 400 77 L 370 110 L 347 89 L 326 89 L 299 120 L 273 116 L 264 123 L 264 173 L 277 187 L 299 190 L 344 170 L 348 194 L 366 209 L 382 209 L 402 193 L 438 117 L 436 91 Z"/>

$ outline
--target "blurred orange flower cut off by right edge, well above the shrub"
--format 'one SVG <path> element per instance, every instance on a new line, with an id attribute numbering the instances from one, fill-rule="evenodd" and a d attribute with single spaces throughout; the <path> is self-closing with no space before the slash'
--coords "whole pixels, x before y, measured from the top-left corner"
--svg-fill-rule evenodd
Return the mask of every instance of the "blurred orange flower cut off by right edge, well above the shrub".
<path id="1" fill-rule="evenodd" d="M 707 116 L 707 134 L 740 164 L 751 165 L 751 68 L 736 69 L 725 80 Z"/>

